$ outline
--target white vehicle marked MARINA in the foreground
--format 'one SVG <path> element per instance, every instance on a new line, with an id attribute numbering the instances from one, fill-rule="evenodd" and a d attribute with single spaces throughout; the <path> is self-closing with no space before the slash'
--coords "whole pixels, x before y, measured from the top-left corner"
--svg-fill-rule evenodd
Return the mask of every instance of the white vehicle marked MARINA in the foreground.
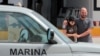
<path id="1" fill-rule="evenodd" d="M 0 5 L 0 56 L 100 56 L 100 45 L 74 43 L 35 11 Z"/>

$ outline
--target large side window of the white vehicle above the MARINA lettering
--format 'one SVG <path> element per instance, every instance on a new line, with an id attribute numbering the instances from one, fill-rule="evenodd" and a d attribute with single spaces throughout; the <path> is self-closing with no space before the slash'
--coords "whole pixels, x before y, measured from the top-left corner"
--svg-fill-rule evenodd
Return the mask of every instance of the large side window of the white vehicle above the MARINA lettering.
<path id="1" fill-rule="evenodd" d="M 6 21 L 2 21 L 5 26 L 2 25 L 4 28 L 0 28 L 0 32 L 6 31 L 8 35 L 6 35 L 6 39 L 0 39 L 0 41 L 17 43 L 47 42 L 46 30 L 31 17 L 21 13 L 2 13 L 0 15 L 3 15 Z"/>

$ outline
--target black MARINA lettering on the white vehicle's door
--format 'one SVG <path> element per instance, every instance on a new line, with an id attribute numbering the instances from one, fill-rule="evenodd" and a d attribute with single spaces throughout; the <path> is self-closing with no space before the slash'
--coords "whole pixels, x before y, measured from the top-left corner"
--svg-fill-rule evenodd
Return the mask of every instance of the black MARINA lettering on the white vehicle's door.
<path id="1" fill-rule="evenodd" d="M 10 55 L 47 55 L 45 49 L 10 49 Z"/>

